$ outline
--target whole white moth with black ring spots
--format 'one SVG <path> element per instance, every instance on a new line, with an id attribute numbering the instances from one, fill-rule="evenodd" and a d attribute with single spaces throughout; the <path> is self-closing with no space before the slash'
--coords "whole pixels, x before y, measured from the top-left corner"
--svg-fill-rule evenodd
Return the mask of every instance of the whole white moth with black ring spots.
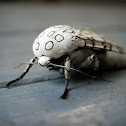
<path id="1" fill-rule="evenodd" d="M 41 66 L 58 70 L 65 75 L 66 87 L 61 96 L 65 99 L 68 93 L 70 70 L 77 72 L 81 72 L 78 70 L 80 68 L 98 70 L 102 62 L 105 62 L 106 51 L 126 53 L 125 49 L 93 31 L 67 25 L 49 27 L 35 39 L 33 43 L 35 57 L 28 63 L 24 73 L 19 78 L 10 81 L 6 87 L 21 80 L 34 64 L 33 62 L 38 59 L 38 64 Z"/>

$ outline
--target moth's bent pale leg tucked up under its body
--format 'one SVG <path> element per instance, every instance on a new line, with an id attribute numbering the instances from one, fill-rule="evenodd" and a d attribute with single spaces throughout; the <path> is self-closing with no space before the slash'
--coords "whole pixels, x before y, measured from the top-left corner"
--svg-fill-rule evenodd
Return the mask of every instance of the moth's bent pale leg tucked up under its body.
<path id="1" fill-rule="evenodd" d="M 99 68 L 99 60 L 97 58 L 97 56 L 95 56 L 94 54 L 92 54 L 91 56 L 89 56 L 82 64 L 81 67 L 89 67 L 92 66 L 94 70 L 97 70 Z"/>

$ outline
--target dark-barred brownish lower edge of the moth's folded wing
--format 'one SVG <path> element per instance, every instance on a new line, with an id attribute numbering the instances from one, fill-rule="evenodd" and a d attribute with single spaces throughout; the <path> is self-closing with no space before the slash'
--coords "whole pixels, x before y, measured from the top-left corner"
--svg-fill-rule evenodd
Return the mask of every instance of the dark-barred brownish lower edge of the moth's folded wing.
<path id="1" fill-rule="evenodd" d="M 100 35 L 99 35 L 100 36 Z M 74 36 L 73 41 L 75 44 L 78 44 L 80 47 L 87 47 L 92 49 L 103 49 L 106 51 L 113 51 L 118 53 L 124 53 L 126 54 L 126 49 L 114 44 L 110 40 L 103 38 L 102 41 L 99 41 L 97 39 L 94 39 L 93 37 L 80 37 L 80 36 Z"/>

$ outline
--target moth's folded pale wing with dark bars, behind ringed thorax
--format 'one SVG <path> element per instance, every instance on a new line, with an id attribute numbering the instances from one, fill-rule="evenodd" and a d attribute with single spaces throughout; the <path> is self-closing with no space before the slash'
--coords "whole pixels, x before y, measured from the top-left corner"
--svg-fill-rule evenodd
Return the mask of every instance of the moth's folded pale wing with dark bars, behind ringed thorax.
<path id="1" fill-rule="evenodd" d="M 79 29 L 77 29 L 79 31 Z M 126 53 L 126 49 L 113 43 L 107 37 L 87 29 L 81 29 L 77 37 L 83 39 L 86 47 L 93 49 L 104 49 L 106 51 L 113 51 L 118 53 Z"/>

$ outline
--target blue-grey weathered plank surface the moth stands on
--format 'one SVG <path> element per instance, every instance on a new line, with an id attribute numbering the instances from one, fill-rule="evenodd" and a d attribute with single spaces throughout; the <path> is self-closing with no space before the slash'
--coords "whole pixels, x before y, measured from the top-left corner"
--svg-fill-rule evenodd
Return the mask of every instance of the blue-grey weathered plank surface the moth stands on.
<path id="1" fill-rule="evenodd" d="M 63 76 L 39 65 L 14 88 L 5 88 L 25 68 L 14 67 L 33 57 L 36 36 L 57 24 L 89 27 L 126 46 L 125 5 L 0 3 L 0 125 L 125 126 L 126 70 L 106 72 L 111 83 L 71 78 L 67 100 L 59 99 Z"/>

